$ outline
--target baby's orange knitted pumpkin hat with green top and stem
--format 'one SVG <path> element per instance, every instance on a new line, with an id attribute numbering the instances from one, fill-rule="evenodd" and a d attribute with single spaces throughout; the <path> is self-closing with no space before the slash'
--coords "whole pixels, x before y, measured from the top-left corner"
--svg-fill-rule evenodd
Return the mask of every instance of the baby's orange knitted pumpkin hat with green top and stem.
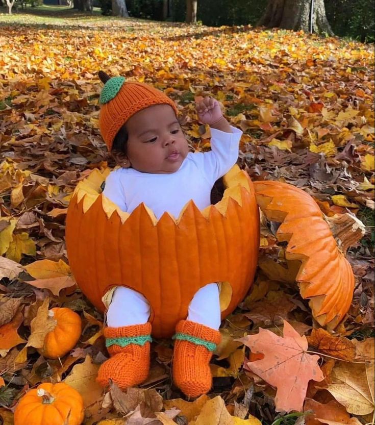
<path id="1" fill-rule="evenodd" d="M 117 132 L 136 112 L 153 105 L 170 105 L 174 113 L 178 113 L 172 99 L 162 91 L 148 84 L 125 82 L 124 77 L 110 78 L 105 72 L 98 72 L 105 83 L 99 103 L 99 129 L 109 151 Z"/>

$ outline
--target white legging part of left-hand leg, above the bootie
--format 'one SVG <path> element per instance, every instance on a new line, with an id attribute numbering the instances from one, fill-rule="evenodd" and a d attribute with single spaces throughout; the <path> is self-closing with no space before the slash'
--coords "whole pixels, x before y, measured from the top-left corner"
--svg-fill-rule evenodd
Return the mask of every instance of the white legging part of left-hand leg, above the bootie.
<path id="1" fill-rule="evenodd" d="M 119 286 L 115 289 L 107 311 L 107 324 L 118 328 L 148 321 L 151 313 L 147 299 L 137 291 Z"/>

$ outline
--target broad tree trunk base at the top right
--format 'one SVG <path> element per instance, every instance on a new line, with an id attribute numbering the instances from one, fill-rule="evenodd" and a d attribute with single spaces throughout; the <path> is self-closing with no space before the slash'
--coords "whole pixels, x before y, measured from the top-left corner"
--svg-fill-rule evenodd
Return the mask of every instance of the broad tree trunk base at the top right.
<path id="1" fill-rule="evenodd" d="M 333 35 L 324 0 L 268 0 L 258 26 Z"/>

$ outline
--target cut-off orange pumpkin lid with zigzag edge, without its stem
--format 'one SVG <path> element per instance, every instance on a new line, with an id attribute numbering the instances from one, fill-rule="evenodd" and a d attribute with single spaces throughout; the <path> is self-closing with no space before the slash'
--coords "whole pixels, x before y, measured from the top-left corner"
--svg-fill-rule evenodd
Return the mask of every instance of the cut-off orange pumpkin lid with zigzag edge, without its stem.
<path id="1" fill-rule="evenodd" d="M 348 311 L 354 274 L 314 199 L 280 182 L 254 182 L 257 202 L 268 220 L 281 222 L 276 232 L 287 241 L 286 259 L 301 261 L 296 276 L 303 298 L 310 298 L 313 316 L 333 329 Z"/>

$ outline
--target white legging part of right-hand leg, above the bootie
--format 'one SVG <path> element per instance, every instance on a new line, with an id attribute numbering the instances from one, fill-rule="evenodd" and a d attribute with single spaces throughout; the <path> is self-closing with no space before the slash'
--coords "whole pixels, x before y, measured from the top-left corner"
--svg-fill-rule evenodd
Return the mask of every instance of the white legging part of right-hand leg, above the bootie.
<path id="1" fill-rule="evenodd" d="M 204 324 L 212 329 L 220 327 L 220 298 L 217 283 L 199 289 L 189 305 L 187 320 Z"/>

